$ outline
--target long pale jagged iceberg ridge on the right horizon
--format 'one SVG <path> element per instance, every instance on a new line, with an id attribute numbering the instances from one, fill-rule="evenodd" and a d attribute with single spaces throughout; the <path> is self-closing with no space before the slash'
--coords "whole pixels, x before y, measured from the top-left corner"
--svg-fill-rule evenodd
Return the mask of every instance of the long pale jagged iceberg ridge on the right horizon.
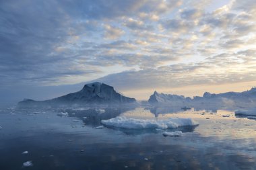
<path id="1" fill-rule="evenodd" d="M 205 92 L 202 97 L 195 96 L 193 98 L 184 97 L 183 95 L 173 95 L 154 92 L 148 102 L 154 105 L 184 105 L 201 108 L 251 108 L 256 105 L 256 87 L 251 88 L 248 91 L 239 92 L 226 92 L 226 93 L 209 93 Z"/>

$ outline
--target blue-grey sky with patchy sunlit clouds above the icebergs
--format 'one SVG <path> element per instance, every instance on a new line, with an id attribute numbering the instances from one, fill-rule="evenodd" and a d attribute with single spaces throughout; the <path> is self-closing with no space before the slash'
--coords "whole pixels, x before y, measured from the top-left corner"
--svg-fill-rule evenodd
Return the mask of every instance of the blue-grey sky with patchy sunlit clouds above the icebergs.
<path id="1" fill-rule="evenodd" d="M 255 0 L 0 1 L 0 103 L 100 81 L 136 99 L 256 86 Z"/>

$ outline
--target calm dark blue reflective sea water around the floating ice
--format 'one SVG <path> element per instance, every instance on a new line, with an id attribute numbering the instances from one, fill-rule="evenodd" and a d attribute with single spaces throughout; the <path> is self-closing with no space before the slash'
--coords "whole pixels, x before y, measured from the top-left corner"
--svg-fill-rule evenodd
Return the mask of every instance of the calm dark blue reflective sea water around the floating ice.
<path id="1" fill-rule="evenodd" d="M 199 125 L 132 130 L 100 123 L 117 116 L 193 118 Z M 234 110 L 7 108 L 0 126 L 1 170 L 256 169 L 255 117 Z M 162 134 L 177 130 L 182 136 Z"/>

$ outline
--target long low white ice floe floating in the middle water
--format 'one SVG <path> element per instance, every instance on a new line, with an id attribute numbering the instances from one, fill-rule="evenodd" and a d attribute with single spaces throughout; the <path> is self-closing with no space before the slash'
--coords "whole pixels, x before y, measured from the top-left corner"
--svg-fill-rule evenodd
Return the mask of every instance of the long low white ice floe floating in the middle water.
<path id="1" fill-rule="evenodd" d="M 198 125 L 192 118 L 170 118 L 167 120 L 141 120 L 126 117 L 117 117 L 109 120 L 101 120 L 105 126 L 114 126 L 126 129 L 148 129 L 148 128 L 179 128 L 181 126 Z"/>

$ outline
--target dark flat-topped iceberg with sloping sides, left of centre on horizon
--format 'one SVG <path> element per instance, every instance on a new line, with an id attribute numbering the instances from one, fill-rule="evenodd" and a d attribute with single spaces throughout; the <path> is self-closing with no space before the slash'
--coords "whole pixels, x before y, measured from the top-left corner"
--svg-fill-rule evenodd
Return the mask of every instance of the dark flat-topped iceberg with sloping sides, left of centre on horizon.
<path id="1" fill-rule="evenodd" d="M 69 93 L 55 99 L 45 101 L 34 101 L 32 99 L 24 99 L 19 105 L 59 105 L 59 104 L 123 104 L 133 103 L 136 100 L 117 93 L 115 89 L 104 83 L 90 83 L 84 85 L 84 88 L 75 93 Z"/>

